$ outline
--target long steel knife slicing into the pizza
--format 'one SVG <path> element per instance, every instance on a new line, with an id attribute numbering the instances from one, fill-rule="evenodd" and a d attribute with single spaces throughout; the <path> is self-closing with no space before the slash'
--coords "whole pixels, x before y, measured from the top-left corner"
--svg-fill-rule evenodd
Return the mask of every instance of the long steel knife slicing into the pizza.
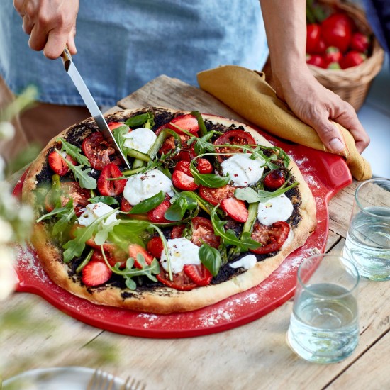
<path id="1" fill-rule="evenodd" d="M 91 113 L 91 116 L 94 117 L 96 125 L 98 126 L 99 130 L 103 134 L 104 138 L 108 141 L 108 143 L 110 143 L 114 147 L 116 152 L 118 152 L 119 157 L 121 157 L 121 160 L 123 160 L 123 162 L 128 167 L 128 169 L 131 169 L 127 158 L 125 157 L 125 155 L 123 155 L 123 152 L 121 148 L 118 146 L 118 143 L 116 143 L 116 139 L 113 138 L 113 134 L 111 133 L 111 130 L 108 128 L 106 119 L 101 113 L 99 106 L 96 104 L 96 101 L 92 97 L 91 92 L 89 92 L 87 85 L 85 85 L 84 80 L 82 79 L 79 72 L 77 71 L 77 68 L 74 66 L 74 62 L 72 61 L 72 56 L 70 55 L 68 48 L 65 48 L 64 51 L 62 52 L 61 59 L 62 62 L 64 63 L 64 67 L 67 74 L 69 74 L 69 77 L 72 79 L 72 82 L 74 83 L 75 87 L 79 91 L 79 94 L 82 96 L 85 105 L 87 106 L 89 112 Z"/>

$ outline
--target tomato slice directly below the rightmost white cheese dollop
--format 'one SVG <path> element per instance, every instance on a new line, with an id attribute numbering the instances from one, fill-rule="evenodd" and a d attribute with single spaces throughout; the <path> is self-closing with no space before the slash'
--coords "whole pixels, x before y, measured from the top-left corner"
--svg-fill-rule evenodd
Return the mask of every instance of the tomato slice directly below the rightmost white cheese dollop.
<path id="1" fill-rule="evenodd" d="M 253 226 L 251 238 L 258 243 L 262 243 L 262 246 L 250 249 L 250 251 L 257 253 L 257 255 L 265 255 L 279 250 L 289 236 L 289 231 L 290 226 L 284 221 L 275 222 L 271 226 L 256 222 Z"/>

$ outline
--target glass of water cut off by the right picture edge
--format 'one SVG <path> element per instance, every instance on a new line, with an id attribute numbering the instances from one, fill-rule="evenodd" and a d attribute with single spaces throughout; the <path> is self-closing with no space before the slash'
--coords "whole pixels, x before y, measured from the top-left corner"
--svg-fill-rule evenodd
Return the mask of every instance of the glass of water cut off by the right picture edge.
<path id="1" fill-rule="evenodd" d="M 343 255 L 361 277 L 390 279 L 390 179 L 357 187 Z"/>

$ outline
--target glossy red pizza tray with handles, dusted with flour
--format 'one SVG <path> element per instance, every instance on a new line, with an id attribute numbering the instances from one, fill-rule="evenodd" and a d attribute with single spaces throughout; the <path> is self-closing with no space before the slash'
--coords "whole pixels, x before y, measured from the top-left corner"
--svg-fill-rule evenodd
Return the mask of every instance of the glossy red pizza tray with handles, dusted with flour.
<path id="1" fill-rule="evenodd" d="M 301 261 L 316 250 L 323 252 L 328 238 L 328 201 L 352 182 L 341 157 L 290 145 L 260 131 L 272 144 L 282 147 L 297 163 L 313 192 L 317 206 L 316 231 L 284 260 L 264 282 L 213 306 L 188 313 L 156 315 L 99 306 L 69 294 L 51 282 L 31 247 L 19 248 L 17 291 L 42 296 L 53 306 L 79 321 L 111 332 L 147 338 L 184 338 L 221 332 L 256 320 L 286 302 L 294 294 L 296 271 Z M 21 194 L 23 177 L 14 194 Z"/>

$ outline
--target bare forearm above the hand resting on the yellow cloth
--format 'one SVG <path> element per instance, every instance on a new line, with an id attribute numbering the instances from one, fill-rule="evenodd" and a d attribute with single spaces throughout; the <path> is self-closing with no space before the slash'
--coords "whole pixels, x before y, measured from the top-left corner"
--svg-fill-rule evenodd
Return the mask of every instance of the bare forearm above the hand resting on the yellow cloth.
<path id="1" fill-rule="evenodd" d="M 306 0 L 260 0 L 272 72 L 284 82 L 306 68 Z"/>

